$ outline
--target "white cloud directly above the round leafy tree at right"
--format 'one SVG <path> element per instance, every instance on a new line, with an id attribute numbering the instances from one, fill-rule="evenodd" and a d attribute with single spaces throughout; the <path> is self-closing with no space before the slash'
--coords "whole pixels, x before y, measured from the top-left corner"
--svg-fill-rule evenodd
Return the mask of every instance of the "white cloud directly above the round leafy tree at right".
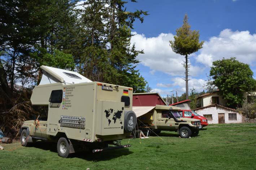
<path id="1" fill-rule="evenodd" d="M 256 62 L 256 34 L 249 31 L 224 29 L 217 37 L 205 41 L 196 61 L 211 66 L 222 58 L 236 57 L 237 60 L 253 65 Z"/>

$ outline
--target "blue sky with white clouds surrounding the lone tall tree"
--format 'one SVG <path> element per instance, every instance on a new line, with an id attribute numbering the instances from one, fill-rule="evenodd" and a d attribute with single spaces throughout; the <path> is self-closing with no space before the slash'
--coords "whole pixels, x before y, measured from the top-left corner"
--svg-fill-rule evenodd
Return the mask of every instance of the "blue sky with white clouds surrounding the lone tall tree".
<path id="1" fill-rule="evenodd" d="M 203 49 L 190 56 L 190 89 L 202 91 L 212 61 L 223 57 L 237 57 L 256 74 L 256 1 L 138 0 L 126 6 L 127 11 L 142 9 L 150 14 L 143 23 L 135 22 L 131 42 L 145 52 L 138 56 L 140 74 L 162 96 L 172 90 L 179 95 L 185 92 L 183 56 L 169 47 L 185 14 L 191 29 L 199 30 L 200 40 L 205 41 Z"/>

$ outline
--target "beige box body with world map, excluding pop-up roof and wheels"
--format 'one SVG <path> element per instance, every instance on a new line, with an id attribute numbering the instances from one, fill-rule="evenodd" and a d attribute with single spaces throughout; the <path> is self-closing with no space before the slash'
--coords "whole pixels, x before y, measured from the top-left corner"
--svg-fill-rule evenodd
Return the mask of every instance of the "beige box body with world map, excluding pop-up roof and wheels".
<path id="1" fill-rule="evenodd" d="M 102 86 L 112 86 L 113 91 L 103 90 Z M 132 110 L 132 101 L 125 106 L 121 98 L 124 90 L 128 91 L 125 97 L 131 98 L 132 91 L 128 87 L 114 86 L 99 82 L 36 86 L 31 102 L 33 105 L 48 105 L 48 119 L 40 121 L 40 129 L 35 130 L 35 135 L 42 134 L 45 138 L 60 132 L 69 139 L 87 142 L 94 142 L 97 138 L 104 141 L 126 138 L 124 114 Z M 61 103 L 49 102 L 54 90 L 62 90 Z M 46 133 L 41 132 L 45 130 L 42 127 L 47 129 Z"/>

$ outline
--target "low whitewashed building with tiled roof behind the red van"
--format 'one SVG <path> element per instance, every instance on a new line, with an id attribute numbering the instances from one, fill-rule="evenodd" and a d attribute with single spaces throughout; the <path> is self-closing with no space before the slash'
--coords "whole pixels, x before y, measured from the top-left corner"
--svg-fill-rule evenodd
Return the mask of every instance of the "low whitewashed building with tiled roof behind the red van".
<path id="1" fill-rule="evenodd" d="M 243 116 L 237 110 L 212 104 L 194 109 L 199 115 L 207 118 L 209 124 L 242 123 Z"/>

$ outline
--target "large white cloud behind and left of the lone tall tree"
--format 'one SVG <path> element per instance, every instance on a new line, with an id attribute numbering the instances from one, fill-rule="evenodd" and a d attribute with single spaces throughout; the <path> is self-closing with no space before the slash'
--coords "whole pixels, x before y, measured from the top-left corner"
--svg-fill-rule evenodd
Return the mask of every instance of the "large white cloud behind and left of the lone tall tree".
<path id="1" fill-rule="evenodd" d="M 174 40 L 172 33 L 161 33 L 157 37 L 150 38 L 136 32 L 133 32 L 133 35 L 131 43 L 135 43 L 137 50 L 144 50 L 144 54 L 138 55 L 138 59 L 143 65 L 170 75 L 184 75 L 184 56 L 176 54 L 169 46 L 169 41 Z M 201 71 L 203 71 L 202 68 L 191 65 L 191 75 L 197 75 Z"/>

